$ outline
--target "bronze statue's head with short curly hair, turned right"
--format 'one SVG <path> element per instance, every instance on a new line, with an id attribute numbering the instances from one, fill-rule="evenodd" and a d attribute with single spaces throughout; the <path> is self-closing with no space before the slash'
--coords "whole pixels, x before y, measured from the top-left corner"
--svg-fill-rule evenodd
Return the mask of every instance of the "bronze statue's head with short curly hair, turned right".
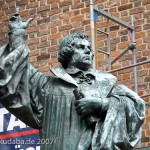
<path id="1" fill-rule="evenodd" d="M 92 66 L 93 50 L 85 33 L 77 32 L 63 38 L 58 60 L 64 68 L 74 66 L 88 69 Z"/>

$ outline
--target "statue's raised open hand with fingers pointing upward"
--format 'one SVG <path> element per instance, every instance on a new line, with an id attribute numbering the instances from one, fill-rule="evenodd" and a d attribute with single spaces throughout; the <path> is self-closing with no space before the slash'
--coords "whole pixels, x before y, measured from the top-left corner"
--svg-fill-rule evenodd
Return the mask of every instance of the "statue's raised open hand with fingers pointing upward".
<path id="1" fill-rule="evenodd" d="M 9 29 L 10 31 L 15 30 L 15 29 L 26 29 L 32 20 L 33 18 L 29 18 L 25 22 L 23 22 L 19 15 L 19 8 L 17 8 L 16 12 L 9 19 Z"/>

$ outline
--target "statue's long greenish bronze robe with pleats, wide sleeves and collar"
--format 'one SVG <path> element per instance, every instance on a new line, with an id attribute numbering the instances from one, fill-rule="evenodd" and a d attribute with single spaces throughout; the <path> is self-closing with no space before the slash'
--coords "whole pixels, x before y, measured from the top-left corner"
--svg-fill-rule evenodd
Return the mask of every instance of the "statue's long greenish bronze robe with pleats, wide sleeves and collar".
<path id="1" fill-rule="evenodd" d="M 55 139 L 41 145 L 41 150 L 76 150 L 88 130 L 92 131 L 87 138 L 88 149 L 133 149 L 145 118 L 144 101 L 136 93 L 116 85 L 113 75 L 93 70 L 93 90 L 99 97 L 109 98 L 109 106 L 105 113 L 96 114 L 98 119 L 90 129 L 75 111 L 76 81 L 62 67 L 52 69 L 56 77 L 38 72 L 30 65 L 28 53 L 26 44 L 13 51 L 9 44 L 0 48 L 0 103 L 24 123 L 39 129 L 41 139 Z"/>

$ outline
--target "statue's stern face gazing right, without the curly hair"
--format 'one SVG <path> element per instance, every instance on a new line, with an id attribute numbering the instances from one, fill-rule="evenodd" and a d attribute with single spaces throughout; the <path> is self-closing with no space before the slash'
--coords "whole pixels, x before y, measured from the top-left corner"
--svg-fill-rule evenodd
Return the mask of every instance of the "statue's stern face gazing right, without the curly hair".
<path id="1" fill-rule="evenodd" d="M 93 52 L 91 44 L 86 39 L 75 39 L 74 54 L 70 64 L 76 68 L 87 70 L 93 63 Z"/>

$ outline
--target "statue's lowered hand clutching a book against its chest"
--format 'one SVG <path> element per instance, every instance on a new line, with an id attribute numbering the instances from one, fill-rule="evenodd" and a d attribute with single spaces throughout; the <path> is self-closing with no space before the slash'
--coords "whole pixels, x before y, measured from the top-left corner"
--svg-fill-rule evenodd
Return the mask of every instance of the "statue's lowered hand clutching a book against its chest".
<path id="1" fill-rule="evenodd" d="M 102 104 L 100 98 L 86 97 L 77 100 L 75 106 L 77 114 L 85 117 L 90 116 L 95 112 L 100 112 Z"/>

